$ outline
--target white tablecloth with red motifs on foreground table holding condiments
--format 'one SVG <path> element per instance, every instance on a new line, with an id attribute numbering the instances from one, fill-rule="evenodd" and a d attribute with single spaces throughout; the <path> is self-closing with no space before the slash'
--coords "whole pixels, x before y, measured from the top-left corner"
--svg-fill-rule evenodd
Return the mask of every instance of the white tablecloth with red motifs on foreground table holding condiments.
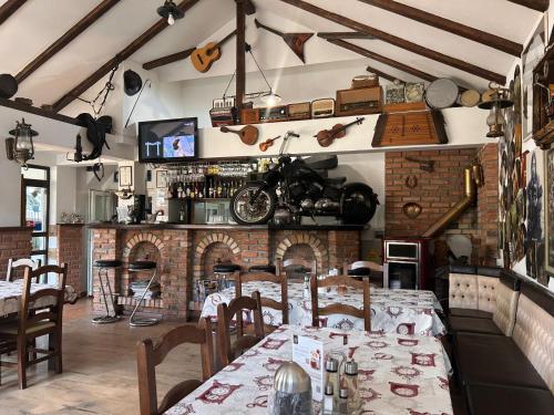
<path id="1" fill-rule="evenodd" d="M 359 364 L 362 413 L 452 414 L 442 344 L 432 336 L 348 332 L 348 344 L 332 329 L 284 325 L 191 393 L 166 415 L 268 413 L 267 400 L 279 365 L 291 359 L 293 334 L 332 339 L 331 349 Z M 318 405 L 315 405 L 316 413 Z"/>

